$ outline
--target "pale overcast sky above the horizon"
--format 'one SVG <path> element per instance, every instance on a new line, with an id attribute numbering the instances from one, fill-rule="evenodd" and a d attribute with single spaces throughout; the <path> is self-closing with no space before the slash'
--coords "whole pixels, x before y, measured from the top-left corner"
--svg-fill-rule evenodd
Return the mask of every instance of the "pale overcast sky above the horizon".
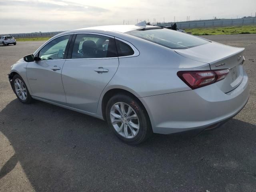
<path id="1" fill-rule="evenodd" d="M 255 16 L 256 0 L 0 0 L 0 34 Z"/>

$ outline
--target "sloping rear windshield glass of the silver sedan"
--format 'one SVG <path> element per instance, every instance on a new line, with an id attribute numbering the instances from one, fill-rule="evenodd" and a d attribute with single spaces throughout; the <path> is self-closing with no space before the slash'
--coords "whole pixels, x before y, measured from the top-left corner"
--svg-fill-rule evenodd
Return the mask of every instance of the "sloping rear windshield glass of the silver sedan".
<path id="1" fill-rule="evenodd" d="M 188 49 L 210 43 L 210 41 L 202 38 L 166 28 L 134 30 L 126 32 L 126 34 L 148 40 L 170 49 Z"/>

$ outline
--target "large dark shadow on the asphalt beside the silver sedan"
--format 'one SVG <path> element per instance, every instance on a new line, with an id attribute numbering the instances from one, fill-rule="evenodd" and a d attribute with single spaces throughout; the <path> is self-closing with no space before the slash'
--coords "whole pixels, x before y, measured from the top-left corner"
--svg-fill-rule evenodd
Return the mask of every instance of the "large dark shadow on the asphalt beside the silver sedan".
<path id="1" fill-rule="evenodd" d="M 36 191 L 249 191 L 256 188 L 256 126 L 232 119 L 193 137 L 154 134 L 124 144 L 106 122 L 40 101 L 13 100 L 0 131 Z M 227 190 L 228 189 L 228 190 Z"/>

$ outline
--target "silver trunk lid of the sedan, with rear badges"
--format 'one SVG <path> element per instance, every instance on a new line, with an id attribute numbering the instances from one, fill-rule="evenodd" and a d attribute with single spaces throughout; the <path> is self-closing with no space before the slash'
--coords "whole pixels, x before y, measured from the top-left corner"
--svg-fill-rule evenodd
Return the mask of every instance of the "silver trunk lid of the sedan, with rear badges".
<path id="1" fill-rule="evenodd" d="M 175 52 L 186 58 L 208 63 L 211 70 L 229 69 L 230 72 L 226 78 L 216 82 L 224 93 L 232 91 L 242 82 L 244 48 L 210 42 L 193 48 L 176 49 Z"/>

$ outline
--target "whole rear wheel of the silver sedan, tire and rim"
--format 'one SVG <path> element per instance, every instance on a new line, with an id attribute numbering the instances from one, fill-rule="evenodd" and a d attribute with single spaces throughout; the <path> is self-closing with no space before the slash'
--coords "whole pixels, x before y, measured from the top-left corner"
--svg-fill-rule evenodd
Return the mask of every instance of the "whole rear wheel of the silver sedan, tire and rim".
<path id="1" fill-rule="evenodd" d="M 128 144 L 139 144 L 152 134 L 146 109 L 137 98 L 126 94 L 110 98 L 106 120 L 116 136 Z"/>

